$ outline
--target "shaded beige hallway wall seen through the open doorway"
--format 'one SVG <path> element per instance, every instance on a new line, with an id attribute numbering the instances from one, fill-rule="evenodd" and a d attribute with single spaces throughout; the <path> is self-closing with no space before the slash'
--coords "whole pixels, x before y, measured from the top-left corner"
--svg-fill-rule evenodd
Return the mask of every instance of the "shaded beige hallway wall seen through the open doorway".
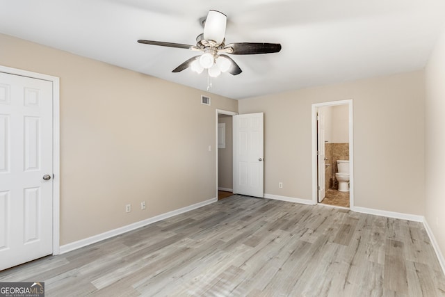
<path id="1" fill-rule="evenodd" d="M 225 148 L 218 149 L 218 187 L 233 189 L 233 136 L 232 115 L 219 115 L 225 123 Z"/>

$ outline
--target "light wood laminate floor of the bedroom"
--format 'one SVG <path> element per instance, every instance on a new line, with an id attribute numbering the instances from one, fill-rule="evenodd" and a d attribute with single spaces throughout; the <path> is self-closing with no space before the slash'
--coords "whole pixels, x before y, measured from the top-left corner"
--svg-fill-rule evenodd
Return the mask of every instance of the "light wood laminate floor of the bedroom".
<path id="1" fill-rule="evenodd" d="M 46 296 L 445 296 L 421 223 L 231 198 L 0 272 Z"/>

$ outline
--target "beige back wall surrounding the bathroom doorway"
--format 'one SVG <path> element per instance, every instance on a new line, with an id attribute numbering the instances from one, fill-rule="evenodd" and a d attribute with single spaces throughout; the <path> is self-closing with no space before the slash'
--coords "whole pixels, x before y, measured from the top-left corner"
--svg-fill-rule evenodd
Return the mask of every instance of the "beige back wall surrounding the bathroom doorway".
<path id="1" fill-rule="evenodd" d="M 343 99 L 353 99 L 355 206 L 423 215 L 421 71 L 240 100 L 240 113 L 264 112 L 265 193 L 312 200 L 312 104 Z"/>

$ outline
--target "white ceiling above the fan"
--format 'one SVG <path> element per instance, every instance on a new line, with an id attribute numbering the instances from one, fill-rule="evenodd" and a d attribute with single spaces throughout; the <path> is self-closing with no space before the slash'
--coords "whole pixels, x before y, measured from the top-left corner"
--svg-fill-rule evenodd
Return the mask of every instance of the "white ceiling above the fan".
<path id="1" fill-rule="evenodd" d="M 445 19 L 444 0 L 0 0 L 0 32 L 206 90 L 204 72 L 171 72 L 195 51 L 136 40 L 195 45 L 209 9 L 227 15 L 226 44 L 282 45 L 232 55 L 243 73 L 210 92 L 234 99 L 419 70 Z"/>

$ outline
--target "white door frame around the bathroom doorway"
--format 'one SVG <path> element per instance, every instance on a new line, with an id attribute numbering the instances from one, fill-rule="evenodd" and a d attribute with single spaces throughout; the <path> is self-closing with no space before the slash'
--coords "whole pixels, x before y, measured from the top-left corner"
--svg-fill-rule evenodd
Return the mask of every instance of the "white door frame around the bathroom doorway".
<path id="1" fill-rule="evenodd" d="M 314 103 L 312 104 L 312 202 L 318 204 L 317 199 L 317 123 L 316 113 L 318 107 L 336 106 L 348 104 L 348 124 L 349 124 L 349 208 L 354 207 L 354 133 L 353 133 L 353 99 Z"/>

